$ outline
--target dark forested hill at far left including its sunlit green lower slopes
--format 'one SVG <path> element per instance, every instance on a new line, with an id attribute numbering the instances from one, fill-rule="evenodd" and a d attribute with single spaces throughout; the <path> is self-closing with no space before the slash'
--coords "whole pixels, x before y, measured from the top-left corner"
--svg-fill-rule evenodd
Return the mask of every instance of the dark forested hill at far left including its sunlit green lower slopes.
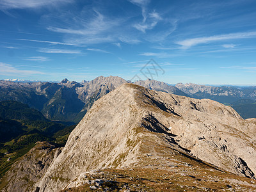
<path id="1" fill-rule="evenodd" d="M 28 104 L 13 100 L 0 102 L 0 178 L 36 142 L 64 146 L 74 127 L 51 122 Z"/>

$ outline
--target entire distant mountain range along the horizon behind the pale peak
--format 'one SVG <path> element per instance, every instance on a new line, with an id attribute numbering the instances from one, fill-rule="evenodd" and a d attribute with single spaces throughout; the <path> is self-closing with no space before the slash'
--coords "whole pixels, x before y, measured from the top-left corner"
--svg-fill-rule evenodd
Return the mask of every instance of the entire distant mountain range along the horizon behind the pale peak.
<path id="1" fill-rule="evenodd" d="M 63 79 L 60 83 L 0 81 L 0 101 L 16 100 L 42 112 L 49 120 L 77 123 L 92 107 L 95 100 L 124 83 L 132 82 L 113 76 L 100 76 L 92 81 L 82 81 L 81 83 L 68 81 L 68 79 Z M 191 83 L 178 83 L 172 86 L 153 79 L 136 81 L 134 84 L 150 90 L 196 99 L 212 99 L 225 104 L 231 104 L 240 99 L 256 100 L 256 86 L 215 87 Z"/>

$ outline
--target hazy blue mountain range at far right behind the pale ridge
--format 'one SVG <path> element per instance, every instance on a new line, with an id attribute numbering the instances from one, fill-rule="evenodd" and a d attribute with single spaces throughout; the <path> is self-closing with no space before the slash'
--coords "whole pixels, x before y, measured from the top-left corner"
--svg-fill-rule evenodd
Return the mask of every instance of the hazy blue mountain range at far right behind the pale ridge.
<path id="1" fill-rule="evenodd" d="M 212 99 L 222 103 L 232 103 L 239 99 L 256 100 L 256 87 L 206 86 L 193 83 L 175 84 L 179 90 L 196 99 Z"/>

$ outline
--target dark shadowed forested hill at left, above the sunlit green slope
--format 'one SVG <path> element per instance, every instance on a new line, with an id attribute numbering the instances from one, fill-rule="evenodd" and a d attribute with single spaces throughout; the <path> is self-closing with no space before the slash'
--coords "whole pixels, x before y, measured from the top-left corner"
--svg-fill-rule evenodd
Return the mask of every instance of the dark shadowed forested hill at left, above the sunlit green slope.
<path id="1" fill-rule="evenodd" d="M 42 113 L 29 108 L 27 104 L 13 100 L 0 102 L 0 143 L 30 134 L 33 130 L 52 136 L 65 127 L 67 126 L 47 120 Z"/>

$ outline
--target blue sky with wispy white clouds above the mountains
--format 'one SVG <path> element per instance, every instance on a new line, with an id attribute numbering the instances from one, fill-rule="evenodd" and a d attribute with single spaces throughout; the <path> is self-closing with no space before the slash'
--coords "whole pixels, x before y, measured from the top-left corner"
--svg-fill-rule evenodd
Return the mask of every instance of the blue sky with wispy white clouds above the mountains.
<path id="1" fill-rule="evenodd" d="M 1 0 L 0 79 L 256 85 L 255 8 L 254 0 Z"/>

